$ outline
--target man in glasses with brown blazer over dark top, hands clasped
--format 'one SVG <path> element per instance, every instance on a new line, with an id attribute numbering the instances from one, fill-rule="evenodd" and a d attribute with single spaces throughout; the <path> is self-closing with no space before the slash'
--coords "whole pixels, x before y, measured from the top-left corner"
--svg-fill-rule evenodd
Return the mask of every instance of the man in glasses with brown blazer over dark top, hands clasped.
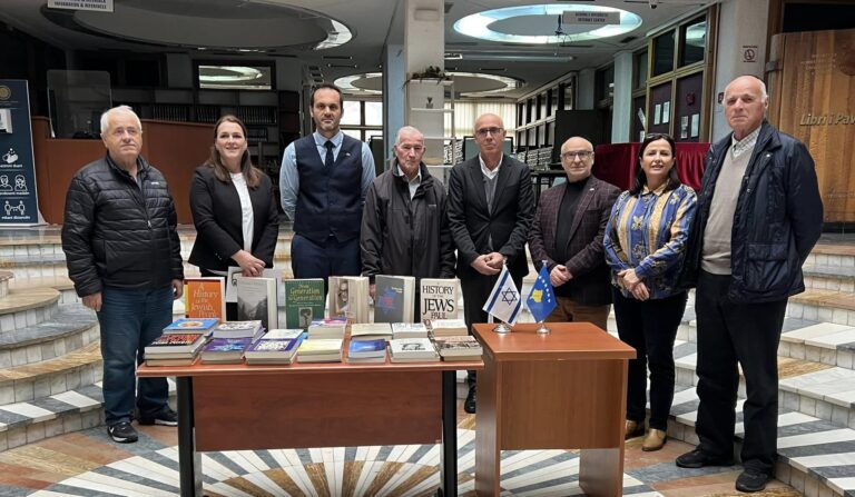
<path id="1" fill-rule="evenodd" d="M 611 288 L 602 237 L 620 189 L 591 176 L 593 145 L 584 138 L 561 146 L 561 167 L 567 182 L 540 196 L 529 235 L 534 266 L 546 262 L 556 289 L 558 306 L 547 321 L 588 321 L 606 329 Z"/>

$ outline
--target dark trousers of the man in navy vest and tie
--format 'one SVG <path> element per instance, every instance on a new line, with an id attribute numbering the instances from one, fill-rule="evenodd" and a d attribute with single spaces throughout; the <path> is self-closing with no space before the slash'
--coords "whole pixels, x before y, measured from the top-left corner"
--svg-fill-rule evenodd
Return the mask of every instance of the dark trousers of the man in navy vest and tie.
<path id="1" fill-rule="evenodd" d="M 327 237 L 324 243 L 295 233 L 291 240 L 291 269 L 294 278 L 323 278 L 327 291 L 331 276 L 358 276 L 360 239 L 338 241 Z"/>

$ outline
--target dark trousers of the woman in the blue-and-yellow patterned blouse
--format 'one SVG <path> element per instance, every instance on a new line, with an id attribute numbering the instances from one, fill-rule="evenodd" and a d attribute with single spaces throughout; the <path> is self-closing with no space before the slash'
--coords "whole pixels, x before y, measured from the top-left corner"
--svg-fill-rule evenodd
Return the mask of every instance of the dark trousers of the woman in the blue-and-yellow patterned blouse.
<path id="1" fill-rule="evenodd" d="M 615 319 L 620 339 L 636 349 L 627 374 L 627 419 L 645 420 L 647 369 L 650 368 L 650 428 L 668 428 L 674 401 L 674 339 L 686 310 L 686 292 L 664 299 L 636 300 L 617 288 Z"/>

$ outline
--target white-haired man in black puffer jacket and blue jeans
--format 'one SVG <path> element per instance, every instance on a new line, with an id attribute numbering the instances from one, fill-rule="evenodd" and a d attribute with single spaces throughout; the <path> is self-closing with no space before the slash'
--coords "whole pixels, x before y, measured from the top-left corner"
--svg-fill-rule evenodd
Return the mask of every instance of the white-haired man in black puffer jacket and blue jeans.
<path id="1" fill-rule="evenodd" d="M 62 250 L 83 305 L 98 314 L 107 433 L 137 441 L 141 425 L 176 426 L 166 378 L 140 378 L 142 350 L 160 336 L 181 296 L 175 203 L 164 176 L 139 156 L 142 126 L 126 106 L 101 116 L 104 159 L 80 169 L 66 197 Z"/>

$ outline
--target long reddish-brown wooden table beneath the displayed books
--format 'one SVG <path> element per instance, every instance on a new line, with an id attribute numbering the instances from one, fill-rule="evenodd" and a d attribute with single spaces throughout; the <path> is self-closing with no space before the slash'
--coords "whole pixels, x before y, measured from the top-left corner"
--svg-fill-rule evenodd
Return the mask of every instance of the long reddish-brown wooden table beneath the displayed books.
<path id="1" fill-rule="evenodd" d="M 346 348 L 345 348 L 346 350 Z M 202 495 L 197 450 L 442 445 L 438 495 L 458 495 L 456 374 L 482 361 L 147 367 L 176 377 L 181 496 Z"/>

